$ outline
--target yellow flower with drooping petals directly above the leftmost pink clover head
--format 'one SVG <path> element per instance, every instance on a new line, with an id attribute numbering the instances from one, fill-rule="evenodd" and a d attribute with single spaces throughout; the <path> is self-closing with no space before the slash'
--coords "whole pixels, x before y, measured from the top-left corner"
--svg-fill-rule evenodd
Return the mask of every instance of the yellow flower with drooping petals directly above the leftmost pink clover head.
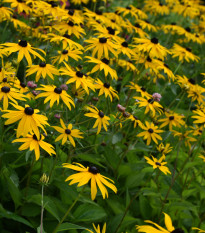
<path id="1" fill-rule="evenodd" d="M 45 79 L 48 75 L 54 80 L 53 74 L 59 75 L 59 72 L 55 66 L 46 64 L 45 62 L 41 62 L 39 65 L 32 65 L 28 70 L 26 70 L 26 76 L 30 76 L 34 73 L 36 73 L 36 82 L 38 82 L 41 76 Z"/>

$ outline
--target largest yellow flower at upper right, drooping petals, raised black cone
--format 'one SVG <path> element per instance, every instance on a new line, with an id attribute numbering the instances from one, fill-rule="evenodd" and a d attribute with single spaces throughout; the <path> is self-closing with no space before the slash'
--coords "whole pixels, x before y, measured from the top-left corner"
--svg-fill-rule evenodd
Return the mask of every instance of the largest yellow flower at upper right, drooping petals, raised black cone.
<path id="1" fill-rule="evenodd" d="M 167 54 L 170 53 L 168 49 L 159 44 L 158 39 L 155 37 L 151 40 L 146 38 L 134 38 L 134 42 L 137 43 L 137 45 L 133 45 L 133 47 L 135 47 L 137 51 L 149 53 L 150 58 L 156 57 L 164 60 Z"/>

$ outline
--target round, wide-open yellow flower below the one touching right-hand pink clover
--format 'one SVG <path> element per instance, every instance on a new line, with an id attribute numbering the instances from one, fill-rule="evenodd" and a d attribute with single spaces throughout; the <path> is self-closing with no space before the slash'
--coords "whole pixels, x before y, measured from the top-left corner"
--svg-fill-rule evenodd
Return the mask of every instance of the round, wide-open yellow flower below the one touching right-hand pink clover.
<path id="1" fill-rule="evenodd" d="M 158 133 L 162 133 L 163 130 L 158 129 L 158 126 L 155 126 L 152 122 L 149 123 L 145 121 L 145 125 L 140 125 L 140 127 L 145 130 L 137 135 L 137 137 L 144 137 L 144 140 L 147 140 L 147 145 L 151 143 L 153 140 L 156 144 L 158 144 L 158 140 L 162 140 L 162 137 L 158 135 Z"/>

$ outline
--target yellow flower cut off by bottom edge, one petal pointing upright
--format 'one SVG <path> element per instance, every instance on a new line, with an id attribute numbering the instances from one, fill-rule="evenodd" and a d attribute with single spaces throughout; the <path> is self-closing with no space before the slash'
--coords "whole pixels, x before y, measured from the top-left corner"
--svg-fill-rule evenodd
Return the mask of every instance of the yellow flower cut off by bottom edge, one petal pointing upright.
<path id="1" fill-rule="evenodd" d="M 166 213 L 164 213 L 164 223 L 166 226 L 166 229 L 159 226 L 157 223 L 154 223 L 150 220 L 145 220 L 146 223 L 150 223 L 152 225 L 154 225 L 155 227 L 153 227 L 152 225 L 143 225 L 143 226 L 136 226 L 138 232 L 145 232 L 145 233 L 184 233 L 184 231 L 181 228 L 175 228 L 172 225 L 172 220 L 170 218 L 170 216 Z"/>

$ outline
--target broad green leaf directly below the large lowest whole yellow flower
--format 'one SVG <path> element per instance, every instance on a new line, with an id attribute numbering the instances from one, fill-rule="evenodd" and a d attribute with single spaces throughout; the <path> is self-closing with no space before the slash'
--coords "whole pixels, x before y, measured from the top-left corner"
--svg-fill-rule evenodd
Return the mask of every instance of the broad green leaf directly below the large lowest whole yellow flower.
<path id="1" fill-rule="evenodd" d="M 98 205 L 82 204 L 73 213 L 77 222 L 95 222 L 106 217 L 104 209 Z"/>

